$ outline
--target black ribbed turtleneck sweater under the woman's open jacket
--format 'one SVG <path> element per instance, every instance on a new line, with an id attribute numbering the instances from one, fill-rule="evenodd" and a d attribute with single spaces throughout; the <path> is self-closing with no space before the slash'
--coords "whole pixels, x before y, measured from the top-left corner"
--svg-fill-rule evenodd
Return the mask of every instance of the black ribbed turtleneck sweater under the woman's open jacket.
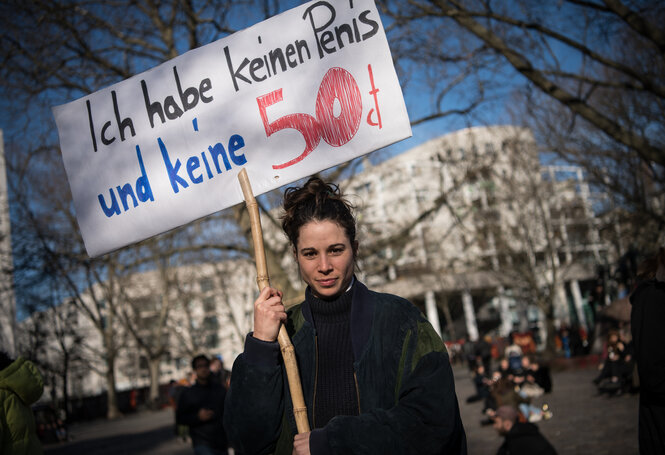
<path id="1" fill-rule="evenodd" d="M 317 333 L 317 375 L 314 392 L 314 428 L 337 415 L 358 415 L 353 376 L 350 289 L 335 300 L 307 294 Z"/>

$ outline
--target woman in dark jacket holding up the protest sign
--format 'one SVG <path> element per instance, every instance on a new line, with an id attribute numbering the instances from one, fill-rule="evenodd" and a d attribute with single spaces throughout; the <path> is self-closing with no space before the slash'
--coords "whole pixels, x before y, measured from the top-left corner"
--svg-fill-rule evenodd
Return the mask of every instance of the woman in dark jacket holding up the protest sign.
<path id="1" fill-rule="evenodd" d="M 282 227 L 307 284 L 288 313 L 265 288 L 254 332 L 236 359 L 225 427 L 243 454 L 466 453 L 443 342 L 408 301 L 368 290 L 353 274 L 351 206 L 311 178 L 284 194 Z M 296 435 L 276 341 L 286 324 L 312 431 Z"/>

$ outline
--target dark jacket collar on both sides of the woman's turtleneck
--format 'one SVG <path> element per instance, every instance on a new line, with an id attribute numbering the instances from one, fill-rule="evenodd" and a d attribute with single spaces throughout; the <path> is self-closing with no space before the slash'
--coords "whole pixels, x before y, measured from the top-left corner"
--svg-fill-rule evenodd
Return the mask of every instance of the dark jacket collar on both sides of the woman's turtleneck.
<path id="1" fill-rule="evenodd" d="M 305 296 L 310 294 L 309 286 L 305 291 Z M 372 318 L 374 316 L 374 299 L 372 299 L 367 286 L 354 277 L 354 283 L 351 288 L 353 297 L 351 299 L 351 344 L 353 346 L 353 358 L 357 362 L 365 350 L 365 345 L 369 341 L 372 332 Z M 302 315 L 307 324 L 314 328 L 314 318 L 312 317 L 312 308 L 307 297 L 302 304 Z"/>

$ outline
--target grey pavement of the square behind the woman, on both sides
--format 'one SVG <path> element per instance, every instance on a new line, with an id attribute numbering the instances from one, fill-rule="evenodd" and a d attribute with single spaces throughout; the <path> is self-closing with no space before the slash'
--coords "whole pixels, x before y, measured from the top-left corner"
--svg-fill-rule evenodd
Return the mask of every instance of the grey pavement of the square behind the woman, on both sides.
<path id="1" fill-rule="evenodd" d="M 467 368 L 454 366 L 457 397 L 470 455 L 496 454 L 502 439 L 482 426 L 482 403 L 467 404 L 473 384 Z M 591 380 L 594 363 L 571 363 L 553 373 L 552 393 L 536 398 L 547 403 L 553 417 L 537 425 L 560 455 L 637 455 L 638 395 L 597 396 Z M 191 445 L 173 433 L 173 410 L 144 411 L 117 420 L 79 422 L 70 426 L 72 440 L 47 445 L 48 455 L 185 455 Z"/>

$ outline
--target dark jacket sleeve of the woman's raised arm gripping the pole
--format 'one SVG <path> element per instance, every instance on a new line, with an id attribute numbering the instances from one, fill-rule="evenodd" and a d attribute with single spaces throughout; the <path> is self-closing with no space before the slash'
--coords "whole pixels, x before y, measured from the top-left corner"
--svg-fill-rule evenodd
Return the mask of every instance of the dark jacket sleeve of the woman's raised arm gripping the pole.
<path id="1" fill-rule="evenodd" d="M 277 342 L 245 339 L 231 372 L 224 403 L 224 428 L 239 453 L 271 453 L 280 434 L 284 387 Z"/>

